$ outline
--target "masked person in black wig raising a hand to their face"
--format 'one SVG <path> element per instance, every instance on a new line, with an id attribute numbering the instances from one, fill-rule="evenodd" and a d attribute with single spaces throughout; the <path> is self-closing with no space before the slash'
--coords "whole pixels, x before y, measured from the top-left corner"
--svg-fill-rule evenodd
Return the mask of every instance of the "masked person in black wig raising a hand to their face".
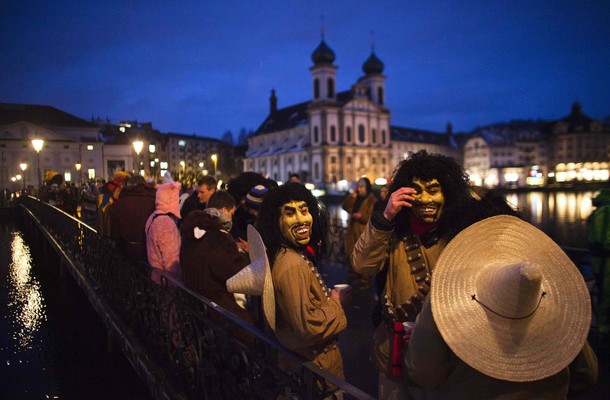
<path id="1" fill-rule="evenodd" d="M 417 385 L 403 385 L 401 377 L 402 349 L 396 339 L 402 323 L 414 321 L 421 310 L 429 274 L 453 236 L 487 216 L 516 212 L 505 201 L 474 196 L 467 174 L 453 158 L 425 150 L 398 165 L 383 205 L 356 242 L 351 263 L 365 276 L 387 268 L 382 322 L 371 355 L 379 370 L 379 398 L 417 398 Z"/>

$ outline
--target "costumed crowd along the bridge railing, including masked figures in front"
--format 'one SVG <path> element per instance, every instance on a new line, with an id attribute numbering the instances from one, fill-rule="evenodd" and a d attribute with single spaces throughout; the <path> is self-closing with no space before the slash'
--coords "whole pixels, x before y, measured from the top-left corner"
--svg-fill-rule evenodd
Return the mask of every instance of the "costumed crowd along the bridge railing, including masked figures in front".
<path id="1" fill-rule="evenodd" d="M 58 201 L 53 178 L 47 195 Z M 380 192 L 363 177 L 342 203 L 350 282 L 378 286 L 380 399 L 564 399 L 594 384 L 589 293 L 557 244 L 474 190 L 450 157 L 412 153 Z M 77 197 L 81 217 L 95 217 L 122 257 L 150 264 L 153 281 L 171 277 L 343 377 L 351 290 L 329 288 L 318 270 L 328 215 L 298 175 L 278 185 L 246 172 L 224 188 L 206 176 L 184 188 L 121 172 Z"/>

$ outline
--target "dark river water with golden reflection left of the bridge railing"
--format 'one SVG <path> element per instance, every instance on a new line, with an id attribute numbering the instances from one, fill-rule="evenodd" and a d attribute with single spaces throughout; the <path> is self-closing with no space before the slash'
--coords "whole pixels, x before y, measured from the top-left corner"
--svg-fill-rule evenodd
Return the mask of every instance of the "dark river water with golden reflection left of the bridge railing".
<path id="1" fill-rule="evenodd" d="M 0 398 L 150 399 L 129 362 L 106 351 L 106 328 L 55 256 L 0 223 Z"/>

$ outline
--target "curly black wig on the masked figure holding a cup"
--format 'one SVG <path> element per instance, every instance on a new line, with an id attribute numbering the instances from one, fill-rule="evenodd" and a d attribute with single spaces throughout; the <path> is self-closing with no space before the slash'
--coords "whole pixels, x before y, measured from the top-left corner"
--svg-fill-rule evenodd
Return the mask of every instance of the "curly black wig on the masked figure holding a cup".
<path id="1" fill-rule="evenodd" d="M 267 256 L 273 268 L 273 261 L 282 249 L 293 247 L 279 229 L 281 207 L 291 201 L 305 201 L 309 213 L 313 217 L 311 239 L 309 245 L 314 249 L 316 256 L 320 256 L 326 249 L 327 213 L 323 204 L 300 183 L 286 183 L 269 190 L 256 220 L 256 229 L 267 246 Z"/>

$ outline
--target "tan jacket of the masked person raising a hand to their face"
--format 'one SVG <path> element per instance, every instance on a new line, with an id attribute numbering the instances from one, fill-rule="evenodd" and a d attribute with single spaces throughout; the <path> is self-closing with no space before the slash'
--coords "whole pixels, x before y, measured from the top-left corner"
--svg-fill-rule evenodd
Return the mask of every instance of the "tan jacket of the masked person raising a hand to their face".
<path id="1" fill-rule="evenodd" d="M 383 291 L 382 300 L 388 307 L 393 308 L 404 304 L 417 291 L 418 283 L 412 268 L 415 264 L 421 265 L 422 259 L 415 261 L 408 260 L 407 249 L 401 238 L 393 235 L 392 230 L 381 230 L 373 226 L 372 221 L 356 242 L 351 262 L 354 270 L 363 275 L 374 275 L 381 271 L 385 261 L 389 258 L 388 278 Z M 414 236 L 416 243 L 413 246 L 419 249 L 419 254 L 425 261 L 426 271 L 431 272 L 436 264 L 444 242 L 438 241 L 429 248 L 422 245 L 417 236 Z M 422 272 L 419 272 L 421 274 Z M 390 354 L 391 354 L 391 331 L 386 323 L 381 323 L 373 335 L 372 361 L 380 372 L 390 376 Z"/>

